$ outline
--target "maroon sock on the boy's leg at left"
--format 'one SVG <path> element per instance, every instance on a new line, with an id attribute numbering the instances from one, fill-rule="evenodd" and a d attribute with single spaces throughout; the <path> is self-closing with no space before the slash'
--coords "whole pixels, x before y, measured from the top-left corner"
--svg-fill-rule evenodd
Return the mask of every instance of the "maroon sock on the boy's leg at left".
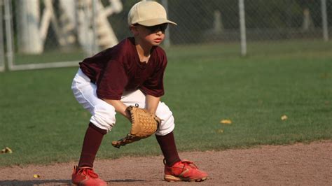
<path id="1" fill-rule="evenodd" d="M 100 144 L 102 143 L 102 138 L 107 131 L 104 129 L 99 129 L 91 122 L 89 127 L 85 132 L 83 147 L 81 152 L 81 158 L 78 162 L 78 167 L 89 166 L 93 167 L 93 162 L 97 155 Z"/>

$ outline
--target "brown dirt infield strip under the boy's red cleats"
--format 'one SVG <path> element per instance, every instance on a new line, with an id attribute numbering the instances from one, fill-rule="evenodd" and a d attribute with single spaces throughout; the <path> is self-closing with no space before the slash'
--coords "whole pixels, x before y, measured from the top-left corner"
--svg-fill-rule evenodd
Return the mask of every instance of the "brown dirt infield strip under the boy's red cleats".
<path id="1" fill-rule="evenodd" d="M 101 160 L 95 162 L 95 171 L 109 185 L 332 185 L 332 141 L 180 156 L 195 161 L 209 178 L 202 183 L 167 183 L 162 180 L 161 156 Z M 69 185 L 73 165 L 4 168 L 0 185 Z"/>

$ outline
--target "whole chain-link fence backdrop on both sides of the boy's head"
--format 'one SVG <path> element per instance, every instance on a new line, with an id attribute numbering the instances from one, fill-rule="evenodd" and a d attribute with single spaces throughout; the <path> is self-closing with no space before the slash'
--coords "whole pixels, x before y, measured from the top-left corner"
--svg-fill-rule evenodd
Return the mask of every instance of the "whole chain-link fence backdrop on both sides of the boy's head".
<path id="1" fill-rule="evenodd" d="M 331 36 L 332 0 L 159 0 L 170 20 L 178 23 L 167 29 L 165 46 L 240 45 L 240 1 L 244 2 L 249 43 L 324 42 Z M 0 52 L 5 50 L 11 70 L 77 65 L 83 57 L 130 36 L 127 13 L 134 3 L 137 1 L 0 0 Z M 4 59 L 0 58 L 0 66 Z"/>

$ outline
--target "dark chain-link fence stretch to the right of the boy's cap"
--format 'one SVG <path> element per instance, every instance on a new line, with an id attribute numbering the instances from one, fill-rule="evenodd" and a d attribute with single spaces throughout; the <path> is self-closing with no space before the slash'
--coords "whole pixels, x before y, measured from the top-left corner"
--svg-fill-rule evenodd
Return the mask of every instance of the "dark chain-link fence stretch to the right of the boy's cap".
<path id="1" fill-rule="evenodd" d="M 323 38 L 321 1 L 245 0 L 248 41 Z M 168 0 L 170 17 L 179 22 L 172 43 L 240 41 L 238 1 Z M 326 1 L 328 24 L 332 1 Z M 329 29 L 331 32 L 331 29 Z"/>

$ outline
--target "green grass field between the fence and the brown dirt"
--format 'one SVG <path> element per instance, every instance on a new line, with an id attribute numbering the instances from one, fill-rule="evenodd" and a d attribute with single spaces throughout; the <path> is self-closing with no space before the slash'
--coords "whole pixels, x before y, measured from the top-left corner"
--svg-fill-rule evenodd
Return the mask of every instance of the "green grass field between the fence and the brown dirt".
<path id="1" fill-rule="evenodd" d="M 311 46 L 311 47 L 310 47 Z M 320 41 L 178 46 L 167 51 L 166 94 L 179 151 L 332 138 L 332 45 Z M 0 166 L 77 161 L 90 114 L 72 96 L 76 68 L 0 73 Z M 288 120 L 281 120 L 287 115 Z M 220 120 L 232 124 L 220 124 Z M 118 117 L 98 158 L 160 155 L 154 137 L 120 150 Z M 223 130 L 223 132 L 219 132 Z"/>

